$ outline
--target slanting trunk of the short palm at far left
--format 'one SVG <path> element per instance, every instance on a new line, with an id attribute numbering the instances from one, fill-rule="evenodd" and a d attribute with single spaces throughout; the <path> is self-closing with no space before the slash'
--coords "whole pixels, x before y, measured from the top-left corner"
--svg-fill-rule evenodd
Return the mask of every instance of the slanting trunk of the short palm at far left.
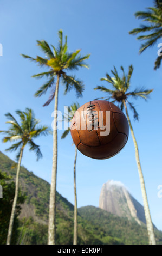
<path id="1" fill-rule="evenodd" d="M 10 222 L 9 222 L 9 229 L 8 229 L 8 235 L 7 235 L 7 245 L 10 245 L 10 243 L 11 243 L 12 229 L 13 229 L 13 225 L 14 225 L 16 204 L 17 204 L 17 198 L 18 198 L 18 183 L 19 183 L 19 175 L 20 175 L 20 166 L 21 166 L 22 155 L 23 155 L 23 147 L 21 148 L 20 156 L 19 156 L 19 159 L 18 159 L 16 182 L 15 182 L 15 196 L 14 196 L 14 201 L 13 201 L 13 204 L 12 204 L 12 210 L 11 210 L 11 216 L 10 216 Z"/>

